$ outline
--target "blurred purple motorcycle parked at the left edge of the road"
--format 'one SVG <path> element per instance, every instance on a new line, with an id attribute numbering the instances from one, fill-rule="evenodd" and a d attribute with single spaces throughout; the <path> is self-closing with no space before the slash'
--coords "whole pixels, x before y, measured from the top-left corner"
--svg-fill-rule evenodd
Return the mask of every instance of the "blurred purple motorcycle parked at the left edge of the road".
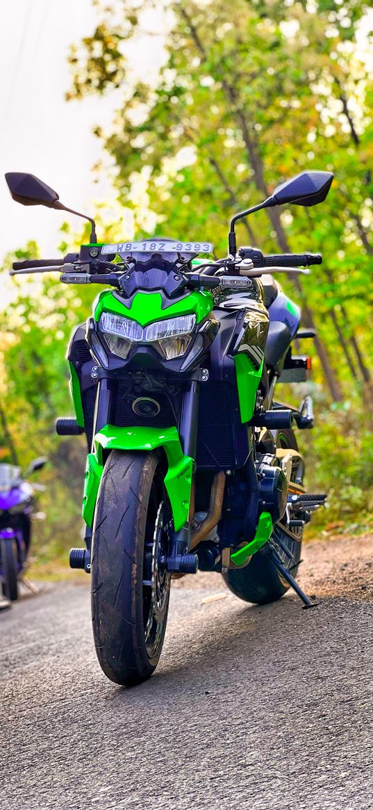
<path id="1" fill-rule="evenodd" d="M 7 599 L 18 599 L 18 580 L 30 550 L 33 495 L 40 485 L 24 480 L 44 467 L 47 459 L 36 458 L 22 475 L 20 467 L 0 464 L 0 579 Z"/>

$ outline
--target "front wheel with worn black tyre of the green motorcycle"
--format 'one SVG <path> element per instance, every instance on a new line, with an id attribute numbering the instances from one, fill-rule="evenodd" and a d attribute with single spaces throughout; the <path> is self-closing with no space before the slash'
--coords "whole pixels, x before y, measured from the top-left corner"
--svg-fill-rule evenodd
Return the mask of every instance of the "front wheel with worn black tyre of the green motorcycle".
<path id="1" fill-rule="evenodd" d="M 100 667 L 122 686 L 146 680 L 162 651 L 169 524 L 159 456 L 113 450 L 95 511 L 91 607 Z"/>

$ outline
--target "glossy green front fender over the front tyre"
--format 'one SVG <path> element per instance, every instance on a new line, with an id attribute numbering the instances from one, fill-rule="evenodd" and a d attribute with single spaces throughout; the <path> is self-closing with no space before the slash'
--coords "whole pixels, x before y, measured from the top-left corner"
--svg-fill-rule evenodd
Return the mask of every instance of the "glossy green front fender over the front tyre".
<path id="1" fill-rule="evenodd" d="M 189 516 L 193 458 L 184 455 L 177 428 L 117 428 L 107 424 L 95 434 L 94 443 L 95 452 L 87 456 L 83 494 L 83 518 L 88 526 L 91 527 L 93 523 L 105 451 L 124 450 L 134 453 L 138 450 L 150 453 L 160 447 L 167 458 L 164 484 L 171 503 L 175 531 L 184 526 Z"/>

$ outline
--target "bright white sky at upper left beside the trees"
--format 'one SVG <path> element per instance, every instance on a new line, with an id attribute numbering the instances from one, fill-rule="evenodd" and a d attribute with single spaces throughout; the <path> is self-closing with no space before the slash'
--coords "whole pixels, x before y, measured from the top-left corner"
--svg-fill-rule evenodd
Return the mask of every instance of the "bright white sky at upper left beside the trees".
<path id="1" fill-rule="evenodd" d="M 116 0 L 113 0 L 116 2 Z M 0 28 L 0 258 L 35 239 L 40 255 L 53 258 L 58 228 L 67 215 L 44 207 L 23 207 L 11 199 L 4 173 L 30 172 L 60 195 L 68 207 L 91 213 L 108 195 L 108 181 L 94 184 L 91 167 L 100 141 L 91 130 L 108 125 L 115 97 L 88 96 L 66 102 L 70 88 L 70 45 L 95 30 L 91 0 L 11 0 L 2 4 Z M 147 20 L 154 31 L 157 21 Z M 134 75 L 157 70 L 162 36 L 143 38 L 129 53 Z M 82 220 L 70 219 L 72 228 Z"/>

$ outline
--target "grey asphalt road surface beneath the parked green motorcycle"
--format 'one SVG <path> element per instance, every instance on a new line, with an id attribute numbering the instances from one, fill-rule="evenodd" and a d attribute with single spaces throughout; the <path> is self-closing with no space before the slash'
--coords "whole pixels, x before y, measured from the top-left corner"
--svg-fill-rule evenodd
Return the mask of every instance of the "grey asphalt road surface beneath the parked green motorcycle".
<path id="1" fill-rule="evenodd" d="M 1 810 L 373 808 L 373 604 L 182 583 L 130 690 L 96 662 L 85 580 L 0 614 Z"/>

